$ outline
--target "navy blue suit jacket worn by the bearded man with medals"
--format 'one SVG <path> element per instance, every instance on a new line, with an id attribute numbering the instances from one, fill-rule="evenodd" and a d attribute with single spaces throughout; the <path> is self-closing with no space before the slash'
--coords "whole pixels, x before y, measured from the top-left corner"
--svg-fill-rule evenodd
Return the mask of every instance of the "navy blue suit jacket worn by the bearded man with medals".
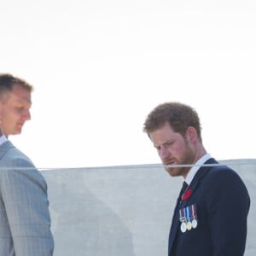
<path id="1" fill-rule="evenodd" d="M 218 164 L 207 160 L 205 164 Z M 169 256 L 241 256 L 247 237 L 250 198 L 245 184 L 228 166 L 201 166 L 189 185 L 192 193 L 172 218 Z M 180 230 L 179 210 L 195 205 L 198 225 Z"/>

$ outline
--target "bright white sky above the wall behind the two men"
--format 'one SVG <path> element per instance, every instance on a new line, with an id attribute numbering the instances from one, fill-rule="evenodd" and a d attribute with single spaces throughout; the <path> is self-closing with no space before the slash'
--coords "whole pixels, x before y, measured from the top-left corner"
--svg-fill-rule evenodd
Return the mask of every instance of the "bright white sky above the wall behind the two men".
<path id="1" fill-rule="evenodd" d="M 36 166 L 159 163 L 142 129 L 167 101 L 216 159 L 255 158 L 255 1 L 9 0 L 0 29 L 0 72 L 35 87 L 9 138 Z"/>

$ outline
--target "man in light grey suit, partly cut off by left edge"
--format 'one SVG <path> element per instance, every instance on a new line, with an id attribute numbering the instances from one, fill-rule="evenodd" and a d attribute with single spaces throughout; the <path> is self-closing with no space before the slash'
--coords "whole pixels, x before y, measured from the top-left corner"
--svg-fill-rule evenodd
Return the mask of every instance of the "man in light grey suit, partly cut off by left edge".
<path id="1" fill-rule="evenodd" d="M 53 255 L 47 184 L 25 154 L 9 142 L 30 119 L 32 86 L 0 74 L 0 255 Z"/>

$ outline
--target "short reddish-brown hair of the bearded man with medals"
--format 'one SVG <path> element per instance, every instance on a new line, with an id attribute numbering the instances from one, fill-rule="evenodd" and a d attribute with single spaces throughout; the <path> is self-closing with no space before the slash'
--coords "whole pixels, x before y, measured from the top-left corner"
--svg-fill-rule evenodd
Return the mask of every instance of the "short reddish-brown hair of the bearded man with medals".
<path id="1" fill-rule="evenodd" d="M 198 114 L 194 108 L 180 102 L 166 102 L 158 105 L 149 114 L 143 125 L 143 131 L 150 132 L 169 123 L 172 130 L 185 135 L 189 126 L 197 131 L 201 139 L 201 125 Z"/>

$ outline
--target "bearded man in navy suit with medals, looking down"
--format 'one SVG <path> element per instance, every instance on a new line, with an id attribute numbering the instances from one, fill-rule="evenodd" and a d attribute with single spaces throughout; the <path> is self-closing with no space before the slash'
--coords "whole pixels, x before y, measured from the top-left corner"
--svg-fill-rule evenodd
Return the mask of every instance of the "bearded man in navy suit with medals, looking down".
<path id="1" fill-rule="evenodd" d="M 241 177 L 204 148 L 195 109 L 160 104 L 148 114 L 147 132 L 166 171 L 182 176 L 169 234 L 169 256 L 242 256 L 250 198 Z"/>

